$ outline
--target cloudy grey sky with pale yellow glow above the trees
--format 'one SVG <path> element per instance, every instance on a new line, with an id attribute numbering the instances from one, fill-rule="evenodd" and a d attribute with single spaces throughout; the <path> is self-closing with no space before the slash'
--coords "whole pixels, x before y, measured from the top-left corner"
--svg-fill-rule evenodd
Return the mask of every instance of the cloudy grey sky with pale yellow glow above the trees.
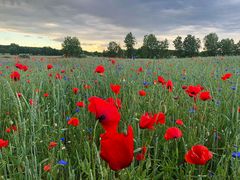
<path id="1" fill-rule="evenodd" d="M 61 48 L 76 36 L 89 51 L 123 46 L 132 32 L 137 46 L 154 33 L 159 40 L 193 34 L 240 40 L 240 0 L 0 0 L 0 44 Z"/>

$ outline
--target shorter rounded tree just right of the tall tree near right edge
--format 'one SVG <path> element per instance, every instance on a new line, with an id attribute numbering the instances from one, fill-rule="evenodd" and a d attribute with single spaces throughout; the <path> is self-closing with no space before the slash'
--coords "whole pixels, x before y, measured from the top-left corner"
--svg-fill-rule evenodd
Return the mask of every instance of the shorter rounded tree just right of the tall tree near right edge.
<path id="1" fill-rule="evenodd" d="M 219 43 L 219 49 L 221 55 L 233 55 L 235 44 L 233 39 L 222 39 Z"/>

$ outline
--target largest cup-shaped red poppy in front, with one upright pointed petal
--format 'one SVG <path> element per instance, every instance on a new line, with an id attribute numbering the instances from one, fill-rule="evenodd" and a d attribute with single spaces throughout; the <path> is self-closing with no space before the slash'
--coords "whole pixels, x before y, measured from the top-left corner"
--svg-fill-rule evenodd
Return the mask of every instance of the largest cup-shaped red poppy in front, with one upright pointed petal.
<path id="1" fill-rule="evenodd" d="M 100 156 L 114 171 L 128 167 L 133 160 L 133 129 L 128 126 L 127 134 L 106 132 L 101 134 Z"/>

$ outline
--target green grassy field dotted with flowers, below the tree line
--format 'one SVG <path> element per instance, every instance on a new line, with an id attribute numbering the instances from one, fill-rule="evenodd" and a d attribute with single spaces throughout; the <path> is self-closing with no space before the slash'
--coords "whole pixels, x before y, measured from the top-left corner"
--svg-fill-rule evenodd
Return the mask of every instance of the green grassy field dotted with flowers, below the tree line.
<path id="1" fill-rule="evenodd" d="M 240 57 L 116 59 L 116 64 L 105 58 L 34 57 L 20 62 L 29 67 L 26 72 L 15 67 L 14 57 L 0 58 L 0 139 L 9 141 L 0 148 L 0 179 L 239 179 L 240 157 L 232 153 L 240 151 Z M 47 70 L 47 64 L 53 68 Z M 97 65 L 105 67 L 104 75 L 94 73 Z M 137 72 L 140 67 L 143 72 Z M 21 74 L 19 81 L 10 78 L 13 71 Z M 57 73 L 62 79 L 55 78 Z M 223 81 L 225 73 L 232 77 Z M 172 92 L 156 82 L 158 76 L 172 80 Z M 118 95 L 110 83 L 121 85 Z M 198 84 L 210 91 L 211 100 L 194 102 L 182 89 Z M 146 96 L 139 96 L 139 90 Z M 88 111 L 91 96 L 121 99 L 119 132 L 133 127 L 134 154 L 146 146 L 144 160 L 134 158 L 129 167 L 115 172 L 101 159 L 99 137 L 104 130 Z M 85 107 L 78 108 L 78 101 Z M 145 112 L 165 113 L 166 123 L 140 129 Z M 80 124 L 68 125 L 71 117 Z M 177 119 L 184 125 L 176 125 Z M 166 141 L 166 129 L 173 126 L 183 136 Z M 56 146 L 49 148 L 50 142 Z M 213 154 L 205 165 L 184 160 L 196 144 Z"/>

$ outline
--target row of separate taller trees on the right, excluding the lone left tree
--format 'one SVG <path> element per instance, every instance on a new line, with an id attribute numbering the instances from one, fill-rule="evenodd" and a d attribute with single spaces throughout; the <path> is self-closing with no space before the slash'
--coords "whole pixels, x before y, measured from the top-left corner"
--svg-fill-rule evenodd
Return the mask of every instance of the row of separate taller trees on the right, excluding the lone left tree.
<path id="1" fill-rule="evenodd" d="M 184 39 L 178 36 L 173 45 L 175 50 L 169 50 L 167 39 L 159 41 L 154 34 L 145 35 L 142 47 L 135 49 L 136 38 L 130 32 L 124 39 L 126 50 L 122 50 L 120 45 L 112 41 L 103 52 L 109 57 L 141 57 L 141 58 L 162 58 L 162 57 L 193 57 L 193 56 L 216 56 L 216 55 L 240 55 L 240 41 L 235 44 L 233 39 L 219 38 L 216 33 L 210 33 L 204 37 L 204 48 L 201 48 L 201 41 L 193 35 L 187 35 Z"/>

